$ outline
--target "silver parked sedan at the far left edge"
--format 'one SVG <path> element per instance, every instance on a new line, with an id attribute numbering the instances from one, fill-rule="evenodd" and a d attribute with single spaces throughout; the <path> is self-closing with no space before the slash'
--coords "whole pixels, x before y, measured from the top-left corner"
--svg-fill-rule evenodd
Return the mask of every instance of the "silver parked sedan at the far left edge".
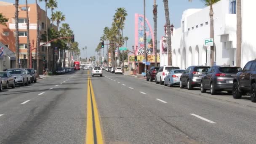
<path id="1" fill-rule="evenodd" d="M 10 74 L 10 72 L 0 72 L 2 88 L 8 89 L 10 86 L 15 88 L 15 80 L 14 77 Z"/>

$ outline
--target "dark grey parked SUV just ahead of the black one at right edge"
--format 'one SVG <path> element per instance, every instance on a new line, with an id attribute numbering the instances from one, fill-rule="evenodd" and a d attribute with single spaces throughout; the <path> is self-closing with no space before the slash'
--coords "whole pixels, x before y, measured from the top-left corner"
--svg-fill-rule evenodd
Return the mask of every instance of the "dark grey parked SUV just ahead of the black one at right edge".
<path id="1" fill-rule="evenodd" d="M 203 75 L 200 91 L 205 93 L 206 90 L 210 90 L 212 95 L 218 91 L 232 94 L 233 79 L 237 72 L 241 71 L 241 67 L 213 66 Z"/>

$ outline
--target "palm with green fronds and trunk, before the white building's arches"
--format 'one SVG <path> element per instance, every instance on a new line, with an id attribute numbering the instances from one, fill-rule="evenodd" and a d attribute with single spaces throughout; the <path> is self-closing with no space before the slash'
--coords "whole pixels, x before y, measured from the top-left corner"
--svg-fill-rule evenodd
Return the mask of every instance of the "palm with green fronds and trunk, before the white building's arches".
<path id="1" fill-rule="evenodd" d="M 189 0 L 192 1 L 192 0 Z M 219 2 L 220 0 L 202 0 L 203 3 L 205 3 L 205 6 L 210 6 L 210 12 L 209 12 L 209 16 L 210 16 L 210 38 L 214 38 L 214 26 L 213 26 L 213 4 Z M 213 46 L 211 46 L 211 66 L 213 66 L 214 63 L 214 43 Z"/>

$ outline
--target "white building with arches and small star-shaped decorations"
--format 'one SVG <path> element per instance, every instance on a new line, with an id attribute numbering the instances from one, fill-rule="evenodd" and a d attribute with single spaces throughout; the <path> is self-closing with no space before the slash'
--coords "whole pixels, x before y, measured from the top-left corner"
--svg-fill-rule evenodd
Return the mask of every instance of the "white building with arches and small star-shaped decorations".
<path id="1" fill-rule="evenodd" d="M 254 11 L 256 0 L 242 0 L 242 54 L 241 67 L 256 59 L 256 29 Z M 221 0 L 213 5 L 214 61 L 217 65 L 236 65 L 236 0 Z M 203 40 L 210 37 L 209 7 L 188 9 L 183 12 L 181 27 L 173 30 L 173 65 L 186 69 L 191 65 L 210 65 L 210 55 Z M 160 44 L 161 45 L 161 44 Z M 161 49 L 161 48 L 160 48 Z M 167 56 L 167 55 L 166 55 Z M 165 56 L 160 65 L 167 65 Z M 163 61 L 164 60 L 164 61 Z"/>

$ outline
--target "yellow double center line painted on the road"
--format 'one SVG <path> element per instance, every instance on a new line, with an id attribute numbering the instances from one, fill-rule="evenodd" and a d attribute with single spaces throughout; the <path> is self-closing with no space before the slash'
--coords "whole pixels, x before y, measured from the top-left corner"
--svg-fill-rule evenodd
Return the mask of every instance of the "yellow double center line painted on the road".
<path id="1" fill-rule="evenodd" d="M 86 124 L 86 144 L 104 144 L 101 133 L 101 125 L 99 120 L 99 112 L 94 96 L 91 77 L 87 81 L 87 124 Z"/>

